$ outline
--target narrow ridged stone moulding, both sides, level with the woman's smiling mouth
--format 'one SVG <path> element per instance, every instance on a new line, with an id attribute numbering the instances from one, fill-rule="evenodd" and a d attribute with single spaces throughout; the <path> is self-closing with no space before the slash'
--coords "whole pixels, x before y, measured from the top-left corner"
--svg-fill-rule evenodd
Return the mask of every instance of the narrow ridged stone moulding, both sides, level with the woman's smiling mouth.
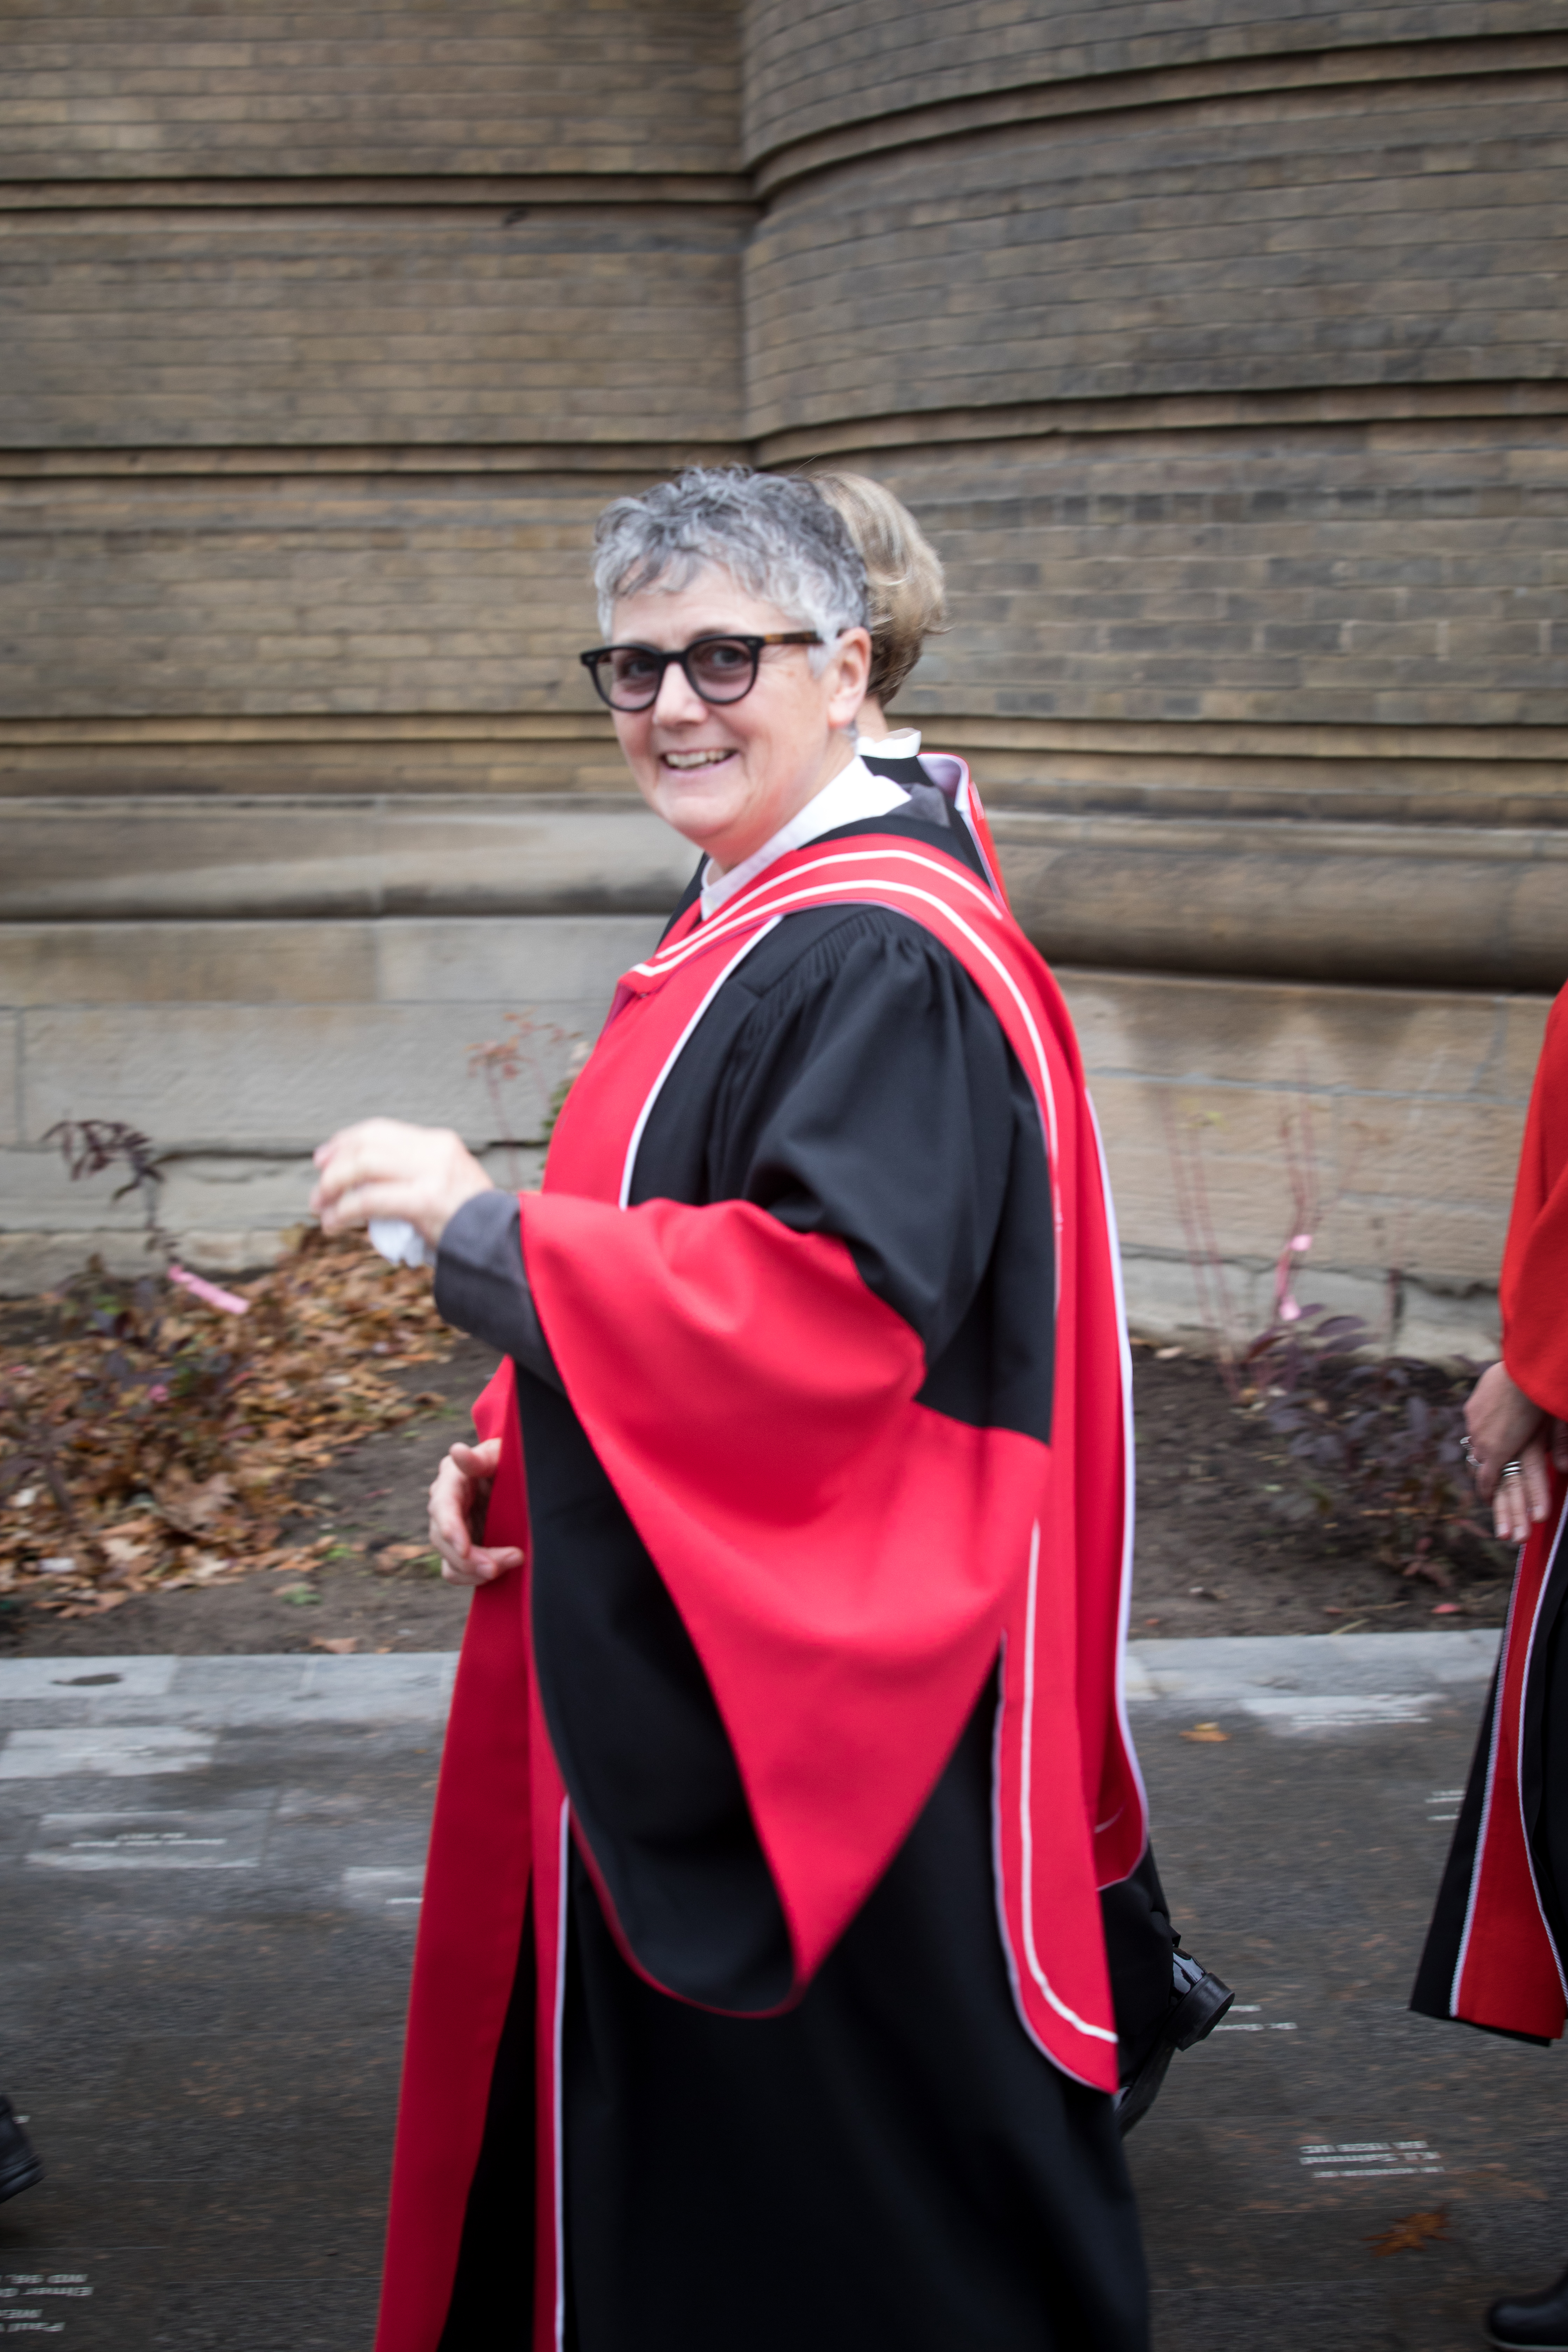
<path id="1" fill-rule="evenodd" d="M 919 680 L 898 710 L 933 750 L 969 760 L 994 811 L 1568 830 L 1568 727 L 999 717 L 943 708 Z M 7 811 L 588 795 L 637 804 L 592 710 L 0 717 Z"/>

